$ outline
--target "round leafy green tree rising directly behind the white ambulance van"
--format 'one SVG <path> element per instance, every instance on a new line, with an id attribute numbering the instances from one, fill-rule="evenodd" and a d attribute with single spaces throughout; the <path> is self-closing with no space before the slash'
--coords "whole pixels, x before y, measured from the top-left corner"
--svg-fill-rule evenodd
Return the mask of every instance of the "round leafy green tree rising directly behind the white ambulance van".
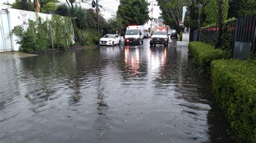
<path id="1" fill-rule="evenodd" d="M 143 25 L 150 19 L 149 3 L 145 0 L 120 0 L 117 17 L 120 19 L 123 29 L 129 25 Z M 124 31 L 123 31 L 124 34 Z"/>

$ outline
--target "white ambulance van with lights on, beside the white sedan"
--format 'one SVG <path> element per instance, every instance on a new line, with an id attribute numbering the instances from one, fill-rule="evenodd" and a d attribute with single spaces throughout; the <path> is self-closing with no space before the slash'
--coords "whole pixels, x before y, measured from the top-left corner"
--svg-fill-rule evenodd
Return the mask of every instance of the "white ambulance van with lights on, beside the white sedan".
<path id="1" fill-rule="evenodd" d="M 140 44 L 140 42 L 142 42 L 143 44 L 143 40 L 144 40 L 144 31 L 143 31 L 142 25 L 128 26 L 126 28 L 125 37 L 124 37 L 125 45 L 130 43 Z"/>

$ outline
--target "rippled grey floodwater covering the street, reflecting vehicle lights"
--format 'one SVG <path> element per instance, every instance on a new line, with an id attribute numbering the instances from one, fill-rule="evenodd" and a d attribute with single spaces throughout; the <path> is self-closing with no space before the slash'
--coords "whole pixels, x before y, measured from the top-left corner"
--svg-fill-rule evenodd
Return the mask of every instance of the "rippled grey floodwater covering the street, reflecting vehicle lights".
<path id="1" fill-rule="evenodd" d="M 187 47 L 0 61 L 0 142 L 233 142 Z"/>

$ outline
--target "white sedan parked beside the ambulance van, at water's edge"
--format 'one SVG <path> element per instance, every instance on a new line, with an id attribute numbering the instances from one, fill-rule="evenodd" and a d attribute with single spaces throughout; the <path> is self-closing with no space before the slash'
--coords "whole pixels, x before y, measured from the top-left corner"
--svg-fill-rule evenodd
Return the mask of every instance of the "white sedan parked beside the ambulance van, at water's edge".
<path id="1" fill-rule="evenodd" d="M 100 45 L 114 46 L 121 43 L 120 37 L 117 34 L 106 34 L 99 39 Z"/>

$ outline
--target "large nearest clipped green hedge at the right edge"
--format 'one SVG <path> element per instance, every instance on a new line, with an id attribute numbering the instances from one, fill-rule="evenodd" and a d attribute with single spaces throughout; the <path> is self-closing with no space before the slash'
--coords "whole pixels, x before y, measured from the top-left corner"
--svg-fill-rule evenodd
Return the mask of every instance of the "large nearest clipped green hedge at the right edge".
<path id="1" fill-rule="evenodd" d="M 238 142 L 256 142 L 256 61 L 212 62 L 212 90 Z"/>

